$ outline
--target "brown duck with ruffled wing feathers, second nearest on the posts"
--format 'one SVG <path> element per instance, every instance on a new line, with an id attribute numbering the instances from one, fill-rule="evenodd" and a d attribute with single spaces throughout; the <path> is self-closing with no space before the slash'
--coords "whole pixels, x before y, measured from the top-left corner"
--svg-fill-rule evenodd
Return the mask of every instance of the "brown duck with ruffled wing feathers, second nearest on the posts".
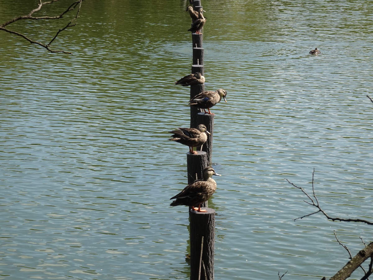
<path id="1" fill-rule="evenodd" d="M 169 140 L 181 143 L 189 147 L 189 153 L 192 155 L 197 155 L 197 151 L 193 151 L 193 147 L 202 146 L 207 141 L 207 131 L 206 125 L 200 124 L 197 128 L 182 128 L 179 127 L 178 130 L 169 131 L 172 133 L 172 138 Z"/>

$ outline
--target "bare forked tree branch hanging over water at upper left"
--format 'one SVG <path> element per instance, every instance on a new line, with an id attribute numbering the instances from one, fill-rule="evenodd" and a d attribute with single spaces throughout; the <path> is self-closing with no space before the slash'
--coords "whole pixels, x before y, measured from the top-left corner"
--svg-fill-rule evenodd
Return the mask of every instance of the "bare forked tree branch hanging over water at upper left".
<path id="1" fill-rule="evenodd" d="M 39 4 L 38 4 L 37 8 L 31 10 L 31 12 L 29 12 L 27 15 L 18 16 L 16 18 L 13 18 L 13 19 L 5 22 L 4 24 L 1 24 L 0 25 L 0 31 L 2 30 L 2 31 L 8 32 L 10 34 L 14 34 L 14 35 L 20 36 L 20 37 L 24 38 L 25 40 L 29 41 L 31 44 L 37 44 L 39 46 L 44 47 L 45 49 L 47 49 L 51 53 L 68 53 L 68 54 L 71 54 L 70 52 L 66 52 L 64 50 L 53 50 L 53 49 L 50 48 L 50 45 L 57 38 L 57 36 L 60 34 L 60 32 L 62 32 L 66 28 L 69 28 L 69 27 L 72 27 L 72 26 L 75 25 L 75 24 L 73 24 L 73 22 L 79 17 L 79 12 L 80 12 L 80 8 L 81 8 L 81 5 L 82 5 L 82 1 L 84 1 L 84 0 L 76 0 L 65 11 L 63 11 L 62 13 L 60 13 L 57 16 L 39 16 L 39 17 L 32 16 L 35 12 L 38 12 L 39 10 L 41 10 L 41 8 L 44 5 L 53 4 L 53 3 L 57 2 L 57 1 L 59 1 L 59 0 L 51 0 L 51 1 L 46 1 L 46 2 L 43 2 L 42 0 L 39 0 Z M 17 31 L 13 31 L 13 30 L 10 30 L 10 29 L 7 28 L 7 25 L 10 25 L 10 24 L 12 24 L 12 23 L 14 23 L 16 21 L 20 21 L 22 19 L 31 19 L 31 20 L 60 19 L 66 13 L 68 13 L 68 12 L 74 10 L 74 9 L 76 9 L 75 17 L 70 22 L 68 22 L 68 24 L 66 24 L 65 27 L 60 28 L 57 31 L 56 35 L 54 35 L 53 39 L 48 44 L 41 43 L 40 41 L 37 41 L 37 40 L 29 38 L 28 36 L 26 36 L 23 33 L 20 33 L 20 32 L 17 32 Z"/>

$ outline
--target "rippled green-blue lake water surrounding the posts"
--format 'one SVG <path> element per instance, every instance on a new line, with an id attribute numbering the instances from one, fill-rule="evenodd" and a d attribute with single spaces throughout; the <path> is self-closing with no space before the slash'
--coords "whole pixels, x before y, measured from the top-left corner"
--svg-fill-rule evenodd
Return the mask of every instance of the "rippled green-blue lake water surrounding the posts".
<path id="1" fill-rule="evenodd" d="M 215 279 L 321 279 L 372 241 L 371 1 L 203 1 Z M 0 22 L 34 6 L 0 0 Z M 0 32 L 0 279 L 189 279 L 187 1 L 85 1 L 51 54 Z M 62 5 L 63 6 L 63 5 Z M 57 9 L 57 7 L 56 7 Z M 63 24 L 18 24 L 40 38 Z M 53 35 L 52 35 L 53 36 Z M 48 41 L 46 39 L 46 41 Z M 308 52 L 317 47 L 321 54 Z M 361 272 L 351 279 L 360 279 Z"/>

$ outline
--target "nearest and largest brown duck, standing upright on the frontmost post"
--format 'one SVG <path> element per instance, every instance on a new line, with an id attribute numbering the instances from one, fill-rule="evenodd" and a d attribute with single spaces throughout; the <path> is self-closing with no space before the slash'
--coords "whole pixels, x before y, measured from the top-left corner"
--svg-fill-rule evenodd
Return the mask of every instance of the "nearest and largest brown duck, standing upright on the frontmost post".
<path id="1" fill-rule="evenodd" d="M 201 209 L 201 203 L 209 200 L 216 190 L 216 182 L 211 178 L 213 175 L 221 176 L 212 167 L 203 169 L 203 179 L 195 180 L 193 183 L 188 184 L 180 193 L 171 197 L 170 199 L 176 200 L 170 206 L 186 205 L 189 206 L 190 210 L 207 212 L 206 209 Z"/>

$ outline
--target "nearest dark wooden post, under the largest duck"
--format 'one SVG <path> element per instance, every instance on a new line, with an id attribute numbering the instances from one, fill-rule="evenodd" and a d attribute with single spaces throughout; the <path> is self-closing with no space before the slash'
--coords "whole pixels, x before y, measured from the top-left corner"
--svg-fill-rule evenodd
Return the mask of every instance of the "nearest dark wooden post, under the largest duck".
<path id="1" fill-rule="evenodd" d="M 204 209 L 189 212 L 191 280 L 214 280 L 215 210 Z"/>

